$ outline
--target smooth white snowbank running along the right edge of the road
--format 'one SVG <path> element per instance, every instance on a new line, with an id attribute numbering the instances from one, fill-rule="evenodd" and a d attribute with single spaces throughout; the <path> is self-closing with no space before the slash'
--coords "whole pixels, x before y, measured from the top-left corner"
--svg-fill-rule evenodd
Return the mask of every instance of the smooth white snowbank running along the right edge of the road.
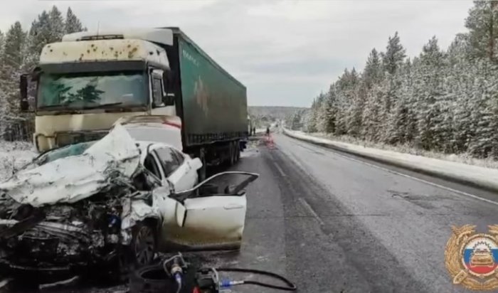
<path id="1" fill-rule="evenodd" d="M 403 154 L 396 151 L 383 149 L 373 149 L 371 147 L 359 146 L 345 142 L 332 141 L 313 137 L 303 132 L 285 130 L 291 137 L 303 139 L 308 142 L 319 144 L 328 144 L 337 149 L 347 151 L 353 154 L 359 154 L 372 159 L 378 159 L 394 166 L 411 169 L 415 171 L 424 171 L 433 176 L 451 179 L 460 183 L 471 183 L 481 188 L 498 191 L 498 169 L 484 168 L 482 166 L 473 166 L 469 164 L 457 163 L 454 161 L 445 161 L 442 159 L 433 159 L 425 156 L 413 154 Z"/>

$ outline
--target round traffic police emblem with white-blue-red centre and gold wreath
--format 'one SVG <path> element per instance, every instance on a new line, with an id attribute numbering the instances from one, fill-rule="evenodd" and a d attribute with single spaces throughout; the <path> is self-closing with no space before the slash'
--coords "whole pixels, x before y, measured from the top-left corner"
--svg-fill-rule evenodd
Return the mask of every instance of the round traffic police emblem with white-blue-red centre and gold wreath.
<path id="1" fill-rule="evenodd" d="M 498 225 L 489 234 L 475 233 L 475 225 L 452 227 L 445 249 L 445 265 L 453 284 L 467 289 L 498 289 Z"/>

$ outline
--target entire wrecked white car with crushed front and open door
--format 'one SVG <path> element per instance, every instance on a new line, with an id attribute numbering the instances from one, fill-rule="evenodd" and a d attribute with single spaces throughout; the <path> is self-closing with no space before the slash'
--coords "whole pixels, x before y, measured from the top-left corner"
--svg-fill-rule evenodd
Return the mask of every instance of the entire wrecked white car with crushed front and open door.
<path id="1" fill-rule="evenodd" d="M 0 267 L 77 274 L 146 265 L 158 248 L 240 247 L 245 187 L 258 174 L 197 183 L 201 161 L 115 125 L 96 142 L 41 154 L 0 183 Z"/>

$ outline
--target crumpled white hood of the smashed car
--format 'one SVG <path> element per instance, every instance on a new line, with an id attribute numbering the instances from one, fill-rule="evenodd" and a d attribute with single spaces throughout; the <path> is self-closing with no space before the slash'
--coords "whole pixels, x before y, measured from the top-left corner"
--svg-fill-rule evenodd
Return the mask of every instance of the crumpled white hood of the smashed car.
<path id="1" fill-rule="evenodd" d="M 134 139 L 117 124 L 83 154 L 21 170 L 0 183 L 0 191 L 31 206 L 75 203 L 109 187 L 117 177 L 129 180 L 139 162 Z"/>

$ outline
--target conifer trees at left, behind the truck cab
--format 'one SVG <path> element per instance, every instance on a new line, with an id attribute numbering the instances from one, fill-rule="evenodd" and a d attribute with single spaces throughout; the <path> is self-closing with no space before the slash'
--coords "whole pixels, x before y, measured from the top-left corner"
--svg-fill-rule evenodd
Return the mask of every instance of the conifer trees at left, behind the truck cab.
<path id="1" fill-rule="evenodd" d="M 50 11 L 42 11 L 29 28 L 16 21 L 9 30 L 0 31 L 0 138 L 31 141 L 33 114 L 19 111 L 19 76 L 33 70 L 47 43 L 83 30 L 70 8 L 63 15 L 53 6 Z"/>

